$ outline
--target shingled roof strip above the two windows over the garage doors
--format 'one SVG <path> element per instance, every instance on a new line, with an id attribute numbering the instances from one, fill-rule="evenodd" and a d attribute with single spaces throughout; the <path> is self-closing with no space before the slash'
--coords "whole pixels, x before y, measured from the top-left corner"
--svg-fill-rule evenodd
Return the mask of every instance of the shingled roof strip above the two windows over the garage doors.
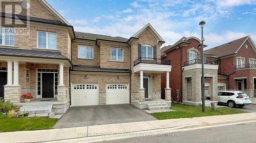
<path id="1" fill-rule="evenodd" d="M 92 33 L 83 33 L 83 32 L 75 32 L 77 39 L 84 39 L 84 40 L 108 40 L 108 41 L 115 41 L 115 42 L 127 42 L 129 39 L 123 38 L 120 36 L 112 37 L 107 35 L 99 35 L 99 34 L 92 34 Z"/>

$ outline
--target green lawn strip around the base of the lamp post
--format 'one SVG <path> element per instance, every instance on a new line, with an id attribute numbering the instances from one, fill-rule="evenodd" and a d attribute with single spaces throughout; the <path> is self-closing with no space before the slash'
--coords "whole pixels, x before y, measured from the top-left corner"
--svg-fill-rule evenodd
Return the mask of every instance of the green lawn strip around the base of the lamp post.
<path id="1" fill-rule="evenodd" d="M 203 113 L 202 106 L 190 106 L 179 103 L 172 103 L 172 109 L 176 111 L 152 113 L 152 115 L 158 120 L 163 120 L 245 113 L 245 111 L 227 107 L 217 108 L 216 111 L 211 111 L 210 107 L 205 107 L 205 112 Z"/>

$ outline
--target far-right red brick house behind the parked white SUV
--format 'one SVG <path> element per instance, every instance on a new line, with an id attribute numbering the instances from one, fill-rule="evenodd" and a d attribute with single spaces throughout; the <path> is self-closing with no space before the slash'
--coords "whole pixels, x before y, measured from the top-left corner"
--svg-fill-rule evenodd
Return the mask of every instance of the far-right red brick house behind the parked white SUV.
<path id="1" fill-rule="evenodd" d="M 206 50 L 218 57 L 218 90 L 244 91 L 256 101 L 256 47 L 250 36 Z"/>

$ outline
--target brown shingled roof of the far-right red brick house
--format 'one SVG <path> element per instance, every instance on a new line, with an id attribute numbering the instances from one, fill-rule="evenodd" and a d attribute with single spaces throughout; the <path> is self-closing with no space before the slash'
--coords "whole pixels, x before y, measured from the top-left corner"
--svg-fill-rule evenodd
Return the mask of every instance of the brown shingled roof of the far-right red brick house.
<path id="1" fill-rule="evenodd" d="M 206 50 L 206 52 L 215 54 L 218 57 L 234 54 L 234 53 L 238 52 L 238 50 L 241 48 L 241 46 L 244 44 L 244 42 L 248 38 L 250 38 L 250 36 L 245 36 L 245 37 L 239 38 L 237 40 L 234 40 L 234 41 L 219 45 L 217 47 L 208 49 L 208 50 Z M 250 38 L 250 40 L 251 40 L 251 38 Z"/>

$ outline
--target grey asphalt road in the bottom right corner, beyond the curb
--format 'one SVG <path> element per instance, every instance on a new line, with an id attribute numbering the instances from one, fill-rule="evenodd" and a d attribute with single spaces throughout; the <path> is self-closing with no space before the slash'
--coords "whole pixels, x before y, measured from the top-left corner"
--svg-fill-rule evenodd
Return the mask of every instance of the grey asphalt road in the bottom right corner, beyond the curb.
<path id="1" fill-rule="evenodd" d="M 170 133 L 165 136 L 143 136 L 118 140 L 103 141 L 106 142 L 131 142 L 131 143 L 150 143 L 150 142 L 225 142 L 225 143 L 251 143 L 256 140 L 256 122 L 237 124 L 231 126 L 222 126 L 214 128 L 205 128 L 198 130 L 182 131 Z"/>

